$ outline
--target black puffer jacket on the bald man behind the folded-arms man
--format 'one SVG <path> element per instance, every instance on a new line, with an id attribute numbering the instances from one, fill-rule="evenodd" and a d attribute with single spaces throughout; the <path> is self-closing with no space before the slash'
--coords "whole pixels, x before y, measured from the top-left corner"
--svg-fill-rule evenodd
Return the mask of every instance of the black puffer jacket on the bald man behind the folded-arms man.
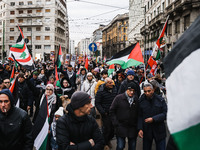
<path id="1" fill-rule="evenodd" d="M 95 106 L 101 115 L 109 114 L 110 106 L 117 95 L 116 87 L 113 87 L 112 92 L 105 87 L 105 84 L 100 86 L 95 96 Z"/>

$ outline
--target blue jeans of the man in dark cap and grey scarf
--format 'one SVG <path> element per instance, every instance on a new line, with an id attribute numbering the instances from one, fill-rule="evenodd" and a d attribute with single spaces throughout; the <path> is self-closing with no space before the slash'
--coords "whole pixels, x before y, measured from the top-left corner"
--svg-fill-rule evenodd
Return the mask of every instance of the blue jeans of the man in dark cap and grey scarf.
<path id="1" fill-rule="evenodd" d="M 125 148 L 125 137 L 117 137 L 117 148 L 116 150 L 123 150 Z M 136 138 L 128 138 L 128 150 L 135 150 Z"/>

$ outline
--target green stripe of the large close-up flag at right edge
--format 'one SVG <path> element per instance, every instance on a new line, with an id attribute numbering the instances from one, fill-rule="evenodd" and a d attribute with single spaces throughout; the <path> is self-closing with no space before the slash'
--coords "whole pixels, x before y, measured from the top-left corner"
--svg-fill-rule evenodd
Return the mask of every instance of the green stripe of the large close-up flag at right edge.
<path id="1" fill-rule="evenodd" d="M 200 149 L 200 123 L 173 133 L 175 143 L 180 150 L 199 150 Z"/>

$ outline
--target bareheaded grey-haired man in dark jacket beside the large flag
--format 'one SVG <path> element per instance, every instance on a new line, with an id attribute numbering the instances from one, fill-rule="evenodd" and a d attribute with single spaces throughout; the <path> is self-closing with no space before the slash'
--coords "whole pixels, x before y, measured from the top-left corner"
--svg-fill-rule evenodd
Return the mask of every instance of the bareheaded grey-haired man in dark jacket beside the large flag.
<path id="1" fill-rule="evenodd" d="M 151 84 L 144 84 L 144 94 L 140 97 L 139 136 L 143 138 L 143 150 L 151 150 L 155 140 L 157 150 L 165 150 L 167 105 L 165 100 L 154 93 Z"/>

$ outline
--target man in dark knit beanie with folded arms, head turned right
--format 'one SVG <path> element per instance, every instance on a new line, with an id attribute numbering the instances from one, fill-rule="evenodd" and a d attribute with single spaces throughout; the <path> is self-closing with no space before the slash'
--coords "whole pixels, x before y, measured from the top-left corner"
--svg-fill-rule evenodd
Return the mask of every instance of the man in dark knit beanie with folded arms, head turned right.
<path id="1" fill-rule="evenodd" d="M 89 116 L 91 97 L 82 91 L 72 95 L 68 114 L 58 119 L 56 142 L 59 150 L 102 150 L 103 136 L 96 120 Z"/>

